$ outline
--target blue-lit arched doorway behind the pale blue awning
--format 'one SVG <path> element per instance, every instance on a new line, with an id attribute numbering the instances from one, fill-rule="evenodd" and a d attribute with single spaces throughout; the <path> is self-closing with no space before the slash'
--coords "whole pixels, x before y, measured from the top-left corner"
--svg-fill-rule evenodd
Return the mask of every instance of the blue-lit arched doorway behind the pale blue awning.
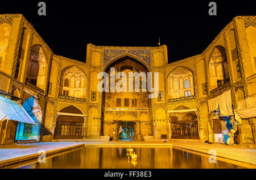
<path id="1" fill-rule="evenodd" d="M 16 140 L 39 140 L 40 128 L 42 123 L 42 109 L 37 99 L 28 98 L 22 104 L 28 115 L 34 120 L 35 124 L 19 122 L 16 132 Z"/>

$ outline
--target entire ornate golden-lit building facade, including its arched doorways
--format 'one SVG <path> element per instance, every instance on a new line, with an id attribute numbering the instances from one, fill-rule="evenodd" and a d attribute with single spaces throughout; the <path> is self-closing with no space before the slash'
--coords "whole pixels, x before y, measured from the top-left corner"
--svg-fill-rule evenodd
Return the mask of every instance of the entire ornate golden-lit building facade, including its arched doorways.
<path id="1" fill-rule="evenodd" d="M 238 123 L 233 115 L 210 112 L 208 104 L 229 90 L 234 111 L 240 109 L 239 102 L 254 98 L 255 24 L 255 16 L 237 16 L 200 55 L 170 64 L 166 45 L 88 44 L 86 62 L 81 62 L 54 55 L 22 15 L 0 15 L 0 95 L 23 104 L 37 124 L 1 120 L 0 140 L 5 144 L 111 137 L 225 142 L 228 130 L 234 128 L 240 143 L 255 143 L 256 118 Z M 158 97 L 148 98 L 148 91 L 100 93 L 98 73 L 111 77 L 113 67 L 114 76 L 159 72 Z"/>

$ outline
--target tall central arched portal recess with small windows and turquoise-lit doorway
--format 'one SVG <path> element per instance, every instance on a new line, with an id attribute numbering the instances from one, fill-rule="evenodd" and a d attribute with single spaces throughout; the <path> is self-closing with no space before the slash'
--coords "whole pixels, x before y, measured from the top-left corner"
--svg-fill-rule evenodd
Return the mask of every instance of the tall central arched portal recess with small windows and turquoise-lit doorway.
<path id="1" fill-rule="evenodd" d="M 111 68 L 114 68 L 114 71 Z M 109 89 L 102 93 L 101 135 L 111 136 L 113 140 L 141 140 L 144 136 L 152 136 L 152 123 L 144 123 L 152 119 L 152 113 L 149 112 L 152 110 L 151 99 L 148 98 L 147 91 L 148 67 L 142 60 L 127 55 L 112 61 L 106 66 L 105 72 L 109 76 Z M 133 76 L 135 72 L 139 74 L 137 78 Z M 121 76 L 118 77 L 118 73 L 121 73 Z M 123 73 L 126 74 L 126 79 L 122 76 Z M 114 91 L 110 89 L 111 78 L 114 78 Z M 130 83 L 129 79 L 133 79 L 133 83 Z M 121 85 L 117 86 L 118 83 Z M 146 114 L 147 118 L 142 114 Z M 120 117 L 122 119 L 119 119 Z"/>

